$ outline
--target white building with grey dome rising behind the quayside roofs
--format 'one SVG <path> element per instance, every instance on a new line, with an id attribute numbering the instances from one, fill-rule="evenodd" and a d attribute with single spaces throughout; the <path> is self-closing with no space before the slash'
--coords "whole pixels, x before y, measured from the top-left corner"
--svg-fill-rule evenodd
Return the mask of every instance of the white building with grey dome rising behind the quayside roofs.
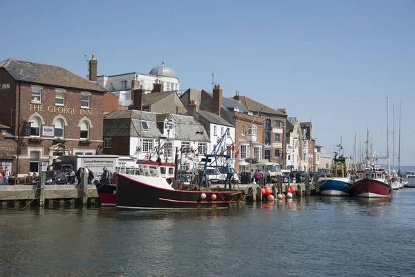
<path id="1" fill-rule="evenodd" d="M 154 89 L 154 83 L 158 80 L 163 84 L 163 91 L 178 91 L 180 84 L 176 71 L 162 62 L 161 65 L 155 66 L 148 74 L 131 72 L 118 75 L 98 75 L 97 82 L 102 87 L 118 96 L 121 106 L 128 106 L 132 103 L 131 83 L 140 82 L 140 88 L 147 92 Z"/>

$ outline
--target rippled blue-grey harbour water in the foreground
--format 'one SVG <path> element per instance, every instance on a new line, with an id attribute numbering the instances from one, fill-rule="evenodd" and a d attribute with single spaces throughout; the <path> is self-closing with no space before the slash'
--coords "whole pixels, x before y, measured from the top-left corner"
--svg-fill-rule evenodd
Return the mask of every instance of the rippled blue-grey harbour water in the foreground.
<path id="1" fill-rule="evenodd" d="M 224 211 L 0 210 L 0 276 L 415 276 L 415 188 Z"/>

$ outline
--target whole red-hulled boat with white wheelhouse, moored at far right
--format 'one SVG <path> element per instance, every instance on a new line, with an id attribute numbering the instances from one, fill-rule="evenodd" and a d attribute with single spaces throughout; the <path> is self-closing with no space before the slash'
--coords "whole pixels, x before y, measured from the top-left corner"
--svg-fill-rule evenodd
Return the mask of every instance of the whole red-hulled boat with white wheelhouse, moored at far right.
<path id="1" fill-rule="evenodd" d="M 356 188 L 357 197 L 381 198 L 392 197 L 394 190 L 391 188 L 387 180 L 385 170 L 375 170 L 370 168 L 358 172 L 354 186 Z"/>

